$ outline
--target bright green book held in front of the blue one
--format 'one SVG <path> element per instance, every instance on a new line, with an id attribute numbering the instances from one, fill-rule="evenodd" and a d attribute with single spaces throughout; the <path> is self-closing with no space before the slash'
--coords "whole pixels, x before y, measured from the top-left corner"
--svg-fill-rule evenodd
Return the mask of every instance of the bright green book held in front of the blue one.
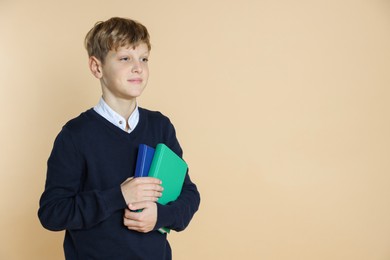
<path id="1" fill-rule="evenodd" d="M 176 200 L 183 187 L 188 165 L 165 144 L 157 144 L 156 151 L 150 165 L 149 177 L 155 177 L 162 181 L 164 188 L 158 203 L 166 205 Z M 161 233 L 169 233 L 168 228 L 159 229 Z"/>

